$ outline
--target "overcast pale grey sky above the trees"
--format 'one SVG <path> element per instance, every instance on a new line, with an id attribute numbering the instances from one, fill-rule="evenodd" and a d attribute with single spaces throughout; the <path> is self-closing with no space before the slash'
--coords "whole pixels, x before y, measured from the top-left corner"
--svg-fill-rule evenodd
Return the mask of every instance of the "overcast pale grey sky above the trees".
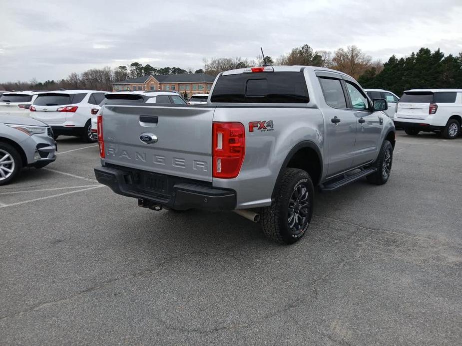
<path id="1" fill-rule="evenodd" d="M 0 82 L 89 68 L 203 67 L 204 57 L 273 58 L 308 43 L 373 58 L 422 46 L 462 51 L 462 0 L 3 1 Z"/>

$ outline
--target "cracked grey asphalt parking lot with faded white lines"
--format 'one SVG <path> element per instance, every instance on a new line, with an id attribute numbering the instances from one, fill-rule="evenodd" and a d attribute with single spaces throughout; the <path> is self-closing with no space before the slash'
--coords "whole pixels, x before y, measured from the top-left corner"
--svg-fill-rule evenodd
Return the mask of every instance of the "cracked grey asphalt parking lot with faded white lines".
<path id="1" fill-rule="evenodd" d="M 389 182 L 317 193 L 310 232 L 139 208 L 98 148 L 0 187 L 1 345 L 461 345 L 462 138 L 399 132 Z"/>

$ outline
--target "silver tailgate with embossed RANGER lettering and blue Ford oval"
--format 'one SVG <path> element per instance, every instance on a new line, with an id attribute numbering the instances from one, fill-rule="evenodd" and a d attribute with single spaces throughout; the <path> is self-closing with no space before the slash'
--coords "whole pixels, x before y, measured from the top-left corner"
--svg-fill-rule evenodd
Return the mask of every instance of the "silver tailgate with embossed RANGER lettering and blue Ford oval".
<path id="1" fill-rule="evenodd" d="M 212 181 L 214 110 L 191 106 L 105 105 L 102 110 L 105 162 Z M 146 143 L 149 138 L 154 139 L 153 143 Z"/>

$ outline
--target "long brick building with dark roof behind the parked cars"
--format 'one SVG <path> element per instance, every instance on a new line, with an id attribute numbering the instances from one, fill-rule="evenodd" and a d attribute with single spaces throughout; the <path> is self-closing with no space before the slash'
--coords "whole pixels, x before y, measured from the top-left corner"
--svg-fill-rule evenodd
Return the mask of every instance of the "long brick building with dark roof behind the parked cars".
<path id="1" fill-rule="evenodd" d="M 186 92 L 188 97 L 190 97 L 193 94 L 208 94 L 214 80 L 214 76 L 205 73 L 150 74 L 112 83 L 112 91 L 175 90 L 181 94 Z"/>

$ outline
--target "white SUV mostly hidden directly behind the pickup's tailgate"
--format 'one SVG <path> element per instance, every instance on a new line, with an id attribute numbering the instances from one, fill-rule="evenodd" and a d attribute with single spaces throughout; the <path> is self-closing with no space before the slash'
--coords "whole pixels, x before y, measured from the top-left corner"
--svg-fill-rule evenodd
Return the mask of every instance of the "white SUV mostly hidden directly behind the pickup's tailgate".
<path id="1" fill-rule="evenodd" d="M 93 139 L 97 139 L 96 115 L 108 100 L 120 102 L 163 103 L 185 105 L 186 101 L 176 91 L 126 91 L 106 93 L 98 106 L 91 109 L 91 132 Z"/>

